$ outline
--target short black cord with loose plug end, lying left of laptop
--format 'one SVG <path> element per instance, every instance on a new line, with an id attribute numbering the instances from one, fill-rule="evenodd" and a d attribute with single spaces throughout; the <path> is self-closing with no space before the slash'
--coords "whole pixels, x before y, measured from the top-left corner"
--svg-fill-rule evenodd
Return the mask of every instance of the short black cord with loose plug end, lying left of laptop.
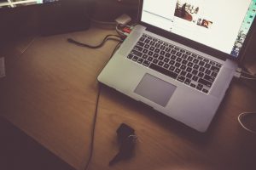
<path id="1" fill-rule="evenodd" d="M 79 46 L 82 46 L 85 48 L 101 48 L 104 45 L 104 43 L 107 42 L 108 40 L 113 40 L 113 41 L 117 41 L 117 42 L 123 41 L 122 39 L 116 39 L 113 37 L 119 37 L 119 36 L 118 35 L 108 35 L 108 36 L 104 37 L 103 41 L 96 46 L 92 46 L 92 45 L 82 43 L 82 42 L 77 42 L 77 41 L 73 40 L 73 38 L 67 38 L 67 42 L 71 42 L 71 43 L 74 43 L 76 45 L 79 45 Z M 121 37 L 119 37 L 119 38 L 121 38 Z"/>

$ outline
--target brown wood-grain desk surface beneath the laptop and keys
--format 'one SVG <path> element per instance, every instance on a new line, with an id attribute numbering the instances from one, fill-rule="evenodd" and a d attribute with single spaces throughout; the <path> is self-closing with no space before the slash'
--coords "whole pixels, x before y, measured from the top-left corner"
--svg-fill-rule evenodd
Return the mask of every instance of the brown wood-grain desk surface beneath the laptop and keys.
<path id="1" fill-rule="evenodd" d="M 25 53 L 17 43 L 7 56 L 1 80 L 0 113 L 76 169 L 90 153 L 90 131 L 96 110 L 97 75 L 117 42 L 81 48 L 67 37 L 97 44 L 114 31 L 89 31 L 37 37 Z M 24 45 L 25 44 L 25 45 Z M 255 85 L 255 84 L 254 84 Z M 256 111 L 256 90 L 249 82 L 232 82 L 207 133 L 196 133 L 145 105 L 102 87 L 89 169 L 255 169 L 256 137 L 237 122 L 242 111 Z M 117 153 L 116 129 L 125 122 L 139 141 L 135 156 L 108 167 Z"/>

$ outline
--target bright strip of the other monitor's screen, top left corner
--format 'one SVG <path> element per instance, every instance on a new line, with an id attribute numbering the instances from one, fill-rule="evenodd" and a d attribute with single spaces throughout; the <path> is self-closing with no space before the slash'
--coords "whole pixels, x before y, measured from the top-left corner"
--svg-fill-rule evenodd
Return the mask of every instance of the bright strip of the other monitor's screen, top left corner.
<path id="1" fill-rule="evenodd" d="M 18 6 L 51 3 L 58 0 L 0 0 L 0 8 L 15 8 Z"/>

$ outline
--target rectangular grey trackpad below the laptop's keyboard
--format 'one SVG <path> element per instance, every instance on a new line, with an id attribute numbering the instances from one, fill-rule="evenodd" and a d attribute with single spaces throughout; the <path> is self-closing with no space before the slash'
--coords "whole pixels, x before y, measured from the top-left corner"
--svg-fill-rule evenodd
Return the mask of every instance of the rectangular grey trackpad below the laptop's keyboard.
<path id="1" fill-rule="evenodd" d="M 171 83 L 160 80 L 152 75 L 145 74 L 134 92 L 165 107 L 176 88 L 177 87 Z"/>

